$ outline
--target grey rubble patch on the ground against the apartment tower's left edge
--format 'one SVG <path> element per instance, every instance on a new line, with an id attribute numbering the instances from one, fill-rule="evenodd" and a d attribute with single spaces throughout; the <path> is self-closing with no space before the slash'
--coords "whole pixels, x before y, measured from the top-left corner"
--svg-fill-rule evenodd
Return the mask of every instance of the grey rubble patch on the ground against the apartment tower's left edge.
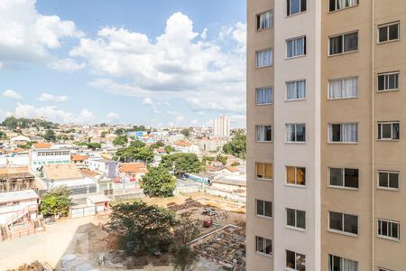
<path id="1" fill-rule="evenodd" d="M 245 229 L 227 227 L 192 246 L 199 255 L 226 264 L 245 266 Z"/>

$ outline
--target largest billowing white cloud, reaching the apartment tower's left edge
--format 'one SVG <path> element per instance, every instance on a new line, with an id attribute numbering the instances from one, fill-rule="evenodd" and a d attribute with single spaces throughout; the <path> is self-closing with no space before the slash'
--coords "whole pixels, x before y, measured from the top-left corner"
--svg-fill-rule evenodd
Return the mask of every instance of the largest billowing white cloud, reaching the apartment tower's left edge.
<path id="1" fill-rule="evenodd" d="M 100 77 L 88 85 L 134 97 L 184 99 L 196 111 L 245 112 L 245 31 L 236 23 L 222 33 L 225 44 L 193 30 L 188 16 L 172 14 L 155 42 L 144 33 L 106 27 L 82 38 L 71 57 L 86 61 Z M 203 39 L 206 37 L 206 39 Z M 229 45 L 229 43 L 231 45 Z"/>

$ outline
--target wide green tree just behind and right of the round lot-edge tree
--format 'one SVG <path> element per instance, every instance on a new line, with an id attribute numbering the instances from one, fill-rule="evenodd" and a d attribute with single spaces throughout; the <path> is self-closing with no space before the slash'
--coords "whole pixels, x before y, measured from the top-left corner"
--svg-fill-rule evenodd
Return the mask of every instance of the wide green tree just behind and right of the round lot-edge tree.
<path id="1" fill-rule="evenodd" d="M 167 154 L 162 157 L 161 165 L 168 170 L 175 170 L 175 175 L 184 173 L 200 173 L 204 164 L 198 160 L 198 155 L 189 153 Z"/>

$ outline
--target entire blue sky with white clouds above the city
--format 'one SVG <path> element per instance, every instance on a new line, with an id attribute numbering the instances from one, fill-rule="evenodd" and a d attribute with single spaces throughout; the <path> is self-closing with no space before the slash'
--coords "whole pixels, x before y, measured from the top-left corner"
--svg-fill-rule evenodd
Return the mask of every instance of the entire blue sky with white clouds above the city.
<path id="1" fill-rule="evenodd" d="M 1 0 L 0 120 L 245 126 L 245 0 Z"/>

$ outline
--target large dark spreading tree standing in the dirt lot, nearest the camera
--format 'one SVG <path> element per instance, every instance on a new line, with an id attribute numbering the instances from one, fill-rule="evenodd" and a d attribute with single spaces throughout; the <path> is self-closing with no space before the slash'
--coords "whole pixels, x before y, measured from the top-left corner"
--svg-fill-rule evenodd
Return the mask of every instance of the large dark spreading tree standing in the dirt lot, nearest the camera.
<path id="1" fill-rule="evenodd" d="M 121 203 L 112 207 L 110 229 L 122 249 L 129 254 L 167 252 L 173 242 L 175 214 L 143 201 Z"/>

